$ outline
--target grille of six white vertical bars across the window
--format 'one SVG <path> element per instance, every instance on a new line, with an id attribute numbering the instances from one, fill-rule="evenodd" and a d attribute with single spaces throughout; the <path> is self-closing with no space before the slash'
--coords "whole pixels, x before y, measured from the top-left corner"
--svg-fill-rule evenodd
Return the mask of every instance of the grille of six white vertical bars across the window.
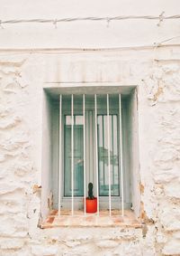
<path id="1" fill-rule="evenodd" d="M 75 113 L 75 99 L 76 99 L 76 95 L 74 94 L 71 94 L 70 96 L 70 115 L 68 115 L 66 117 L 66 124 L 64 125 L 64 129 L 66 129 L 66 131 L 64 132 L 64 137 L 67 136 L 67 139 L 69 141 L 69 136 L 68 135 L 71 135 L 70 137 L 70 154 L 71 156 L 67 157 L 68 158 L 68 164 L 69 164 L 69 159 L 71 161 L 70 163 L 70 171 L 68 172 L 68 174 L 71 175 L 71 187 L 70 187 L 70 190 L 71 190 L 71 195 L 69 196 L 69 194 L 67 193 L 67 195 L 71 198 L 71 214 L 74 215 L 74 210 L 75 210 L 75 198 L 76 198 L 76 195 L 75 194 L 75 180 L 74 180 L 74 177 L 75 177 L 75 154 L 74 154 L 74 149 L 75 149 L 75 136 L 76 136 L 76 129 L 78 127 L 78 125 L 76 125 L 76 119 L 80 119 L 82 120 L 82 122 L 80 122 L 80 126 L 83 128 L 80 128 L 80 131 L 83 130 L 83 183 L 84 183 L 84 188 L 83 188 L 83 198 L 84 198 L 84 203 L 85 203 L 85 197 L 86 197 L 86 193 L 85 193 L 85 189 L 86 189 L 86 175 L 87 175 L 87 170 L 86 170 L 86 149 L 88 147 L 88 145 L 86 145 L 86 139 L 85 139 L 85 130 L 86 130 L 86 123 L 85 123 L 85 103 L 86 103 L 86 99 L 87 99 L 87 96 L 88 95 L 81 95 L 80 97 L 82 97 L 82 104 L 81 104 L 81 118 L 79 118 L 80 116 L 76 116 L 76 113 Z M 103 148 L 103 150 L 107 149 L 106 153 L 107 153 L 107 166 L 108 166 L 108 209 L 109 209 L 109 215 L 111 216 L 112 214 L 112 178 L 114 178 L 114 176 L 112 176 L 112 168 L 111 168 L 111 163 L 113 163 L 113 161 L 115 161 L 113 159 L 113 156 L 111 156 L 111 140 L 112 140 L 112 131 L 110 129 L 110 123 L 112 125 L 112 119 L 116 120 L 115 117 L 112 117 L 112 113 L 110 113 L 110 97 L 111 95 L 110 94 L 106 94 L 105 96 L 104 95 L 96 95 L 94 94 L 93 96 L 91 96 L 93 98 L 93 103 L 94 103 L 94 106 L 93 106 L 93 111 L 94 111 L 94 155 L 95 155 L 95 176 L 96 176 L 96 185 L 94 187 L 94 190 L 96 191 L 96 197 L 97 197 L 97 215 L 99 215 L 99 212 L 100 212 L 100 195 L 99 195 L 99 163 L 98 163 L 98 157 L 99 157 L 99 154 L 98 154 L 98 113 L 97 113 L 97 103 L 98 103 L 98 98 L 103 96 L 103 99 L 105 97 L 105 105 L 106 105 L 106 108 L 103 108 L 103 113 L 105 115 L 105 119 L 106 119 L 106 124 L 107 126 L 103 129 L 105 130 L 106 129 L 106 134 L 107 134 L 107 148 Z M 65 172 L 66 171 L 66 168 L 65 168 L 65 165 L 64 167 L 62 167 L 62 161 L 63 161 L 63 157 L 62 157 L 62 146 L 63 144 L 65 144 L 65 147 L 67 147 L 67 144 L 64 142 L 64 139 L 63 139 L 63 135 L 62 135 L 62 130 L 63 130 L 63 122 L 62 122 L 62 119 L 63 119 L 63 111 L 64 111 L 64 106 L 63 106 L 63 98 L 66 97 L 66 95 L 62 95 L 60 94 L 59 95 L 59 173 L 58 173 L 58 215 L 61 214 L 61 198 L 63 196 L 62 194 L 62 189 L 61 189 L 61 186 L 62 186 L 62 182 L 63 182 L 63 178 L 62 178 L 62 174 L 63 174 L 63 171 Z M 120 212 L 121 212 L 121 215 L 123 216 L 124 215 L 124 193 L 123 193 L 123 184 L 124 184 L 124 181 L 123 181 L 123 165 L 122 165 L 122 160 L 123 160 L 123 156 L 122 156 L 122 126 L 121 126 L 121 94 L 117 95 L 117 102 L 118 102 L 118 116 L 119 118 L 117 119 L 117 124 L 116 124 L 116 129 L 119 129 L 119 136 L 117 136 L 117 140 L 119 141 L 119 146 L 118 146 L 118 151 L 119 151 L 119 154 L 118 154 L 118 159 L 119 159 L 119 164 L 118 164 L 118 167 L 119 167 L 119 170 L 118 170 L 118 174 L 116 176 L 116 178 L 118 177 L 118 184 L 119 184 L 119 189 L 121 187 L 121 204 L 120 204 Z M 100 119 L 100 118 L 99 118 Z M 101 116 L 101 119 L 102 116 Z M 119 120 L 119 124 L 118 124 L 118 120 Z M 114 121 L 114 123 L 116 123 Z M 77 122 L 78 124 L 78 122 Z M 69 133 L 70 131 L 70 133 Z M 67 135 L 66 135 L 66 132 L 67 132 Z M 78 133 L 78 132 L 77 132 Z M 78 139 L 78 137 L 77 137 Z M 79 146 L 80 147 L 80 146 Z M 65 150 L 66 151 L 66 150 Z M 69 151 L 68 153 L 66 154 L 69 154 Z M 79 156 L 80 157 L 80 156 Z M 103 160 L 104 161 L 104 160 Z M 64 168 L 64 170 L 63 170 Z M 67 174 L 66 174 L 67 175 Z M 120 178 L 121 177 L 121 178 Z M 64 175 L 64 179 L 65 179 L 65 175 Z M 65 189 L 64 189 L 65 191 Z M 69 190 L 68 190 L 69 191 Z M 84 204 L 84 213 L 86 212 L 86 209 L 85 209 L 85 204 Z"/>

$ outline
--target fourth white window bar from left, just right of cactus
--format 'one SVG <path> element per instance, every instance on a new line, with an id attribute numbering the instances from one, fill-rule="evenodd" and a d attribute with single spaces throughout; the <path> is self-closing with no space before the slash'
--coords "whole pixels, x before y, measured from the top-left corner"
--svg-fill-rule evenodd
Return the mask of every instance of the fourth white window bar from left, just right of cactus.
<path id="1" fill-rule="evenodd" d="M 97 215 L 99 216 L 99 173 L 98 173 L 98 145 L 97 145 L 97 96 L 94 94 L 94 110 L 95 110 L 95 170 L 97 185 Z"/>

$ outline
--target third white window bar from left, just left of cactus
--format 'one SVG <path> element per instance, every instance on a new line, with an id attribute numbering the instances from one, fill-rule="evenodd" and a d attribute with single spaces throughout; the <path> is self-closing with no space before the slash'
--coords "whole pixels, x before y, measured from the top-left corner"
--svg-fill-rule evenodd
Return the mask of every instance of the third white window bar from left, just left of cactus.
<path id="1" fill-rule="evenodd" d="M 85 205 L 85 188 L 86 188 L 86 170 L 85 170 L 85 94 L 83 94 L 83 145 L 84 145 L 84 210 L 86 213 L 86 205 Z"/>

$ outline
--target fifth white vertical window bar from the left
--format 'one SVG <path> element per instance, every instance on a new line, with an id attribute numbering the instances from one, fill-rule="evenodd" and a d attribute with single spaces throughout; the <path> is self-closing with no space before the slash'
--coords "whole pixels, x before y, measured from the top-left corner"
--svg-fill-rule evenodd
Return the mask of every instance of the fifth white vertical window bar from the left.
<path id="1" fill-rule="evenodd" d="M 110 106 L 109 94 L 107 94 L 107 147 L 108 147 L 108 179 L 109 179 L 109 214 L 112 215 L 112 186 L 111 186 L 111 166 L 110 166 Z"/>

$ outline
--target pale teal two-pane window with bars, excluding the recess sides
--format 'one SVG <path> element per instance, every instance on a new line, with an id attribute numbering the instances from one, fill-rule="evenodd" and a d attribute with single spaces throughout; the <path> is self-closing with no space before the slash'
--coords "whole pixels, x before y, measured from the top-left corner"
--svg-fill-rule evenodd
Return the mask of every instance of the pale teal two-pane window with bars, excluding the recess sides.
<path id="1" fill-rule="evenodd" d="M 99 210 L 124 208 L 121 95 L 61 94 L 59 119 L 60 208 L 83 210 L 89 182 L 94 184 Z"/>

